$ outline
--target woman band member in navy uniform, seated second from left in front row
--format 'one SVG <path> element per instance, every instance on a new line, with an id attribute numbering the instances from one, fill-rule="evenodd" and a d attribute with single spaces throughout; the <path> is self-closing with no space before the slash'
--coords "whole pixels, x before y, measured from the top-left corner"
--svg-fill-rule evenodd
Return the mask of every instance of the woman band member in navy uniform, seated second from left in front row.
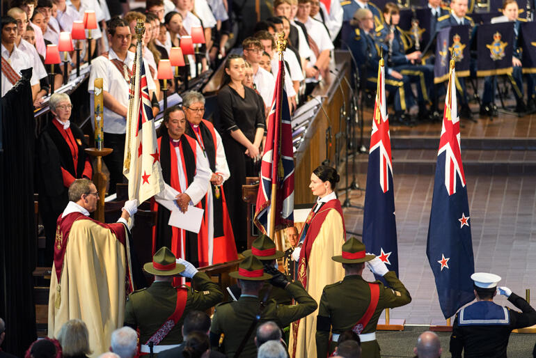
<path id="1" fill-rule="evenodd" d="M 420 65 L 420 51 L 406 54 L 413 46 L 413 40 L 400 26 L 400 8 L 395 3 L 388 2 L 384 8 L 385 23 L 376 27 L 376 37 L 387 45 L 384 57 L 393 70 L 409 77 L 417 85 L 418 118 L 429 118 L 427 104 L 434 98 L 434 66 Z"/>

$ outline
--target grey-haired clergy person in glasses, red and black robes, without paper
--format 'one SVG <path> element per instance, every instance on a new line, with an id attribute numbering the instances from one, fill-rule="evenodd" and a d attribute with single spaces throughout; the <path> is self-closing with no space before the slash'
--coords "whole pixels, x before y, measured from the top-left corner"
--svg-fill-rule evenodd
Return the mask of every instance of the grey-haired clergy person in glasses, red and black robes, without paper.
<path id="1" fill-rule="evenodd" d="M 221 137 L 214 130 L 214 125 L 203 119 L 205 114 L 205 98 L 197 91 L 189 91 L 182 96 L 182 109 L 188 121 L 185 134 L 196 139 L 205 152 L 210 166 L 211 176 L 209 189 L 205 198 L 201 200 L 205 209 L 205 222 L 207 222 L 206 237 L 208 264 L 225 263 L 237 259 L 235 236 L 227 211 L 223 182 L 230 171 Z"/>

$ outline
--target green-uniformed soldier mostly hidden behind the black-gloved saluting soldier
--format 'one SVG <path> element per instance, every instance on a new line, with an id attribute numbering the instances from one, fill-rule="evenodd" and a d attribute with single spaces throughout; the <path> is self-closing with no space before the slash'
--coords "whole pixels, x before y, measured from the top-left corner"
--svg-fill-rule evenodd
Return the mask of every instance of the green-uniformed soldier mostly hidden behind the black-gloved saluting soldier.
<path id="1" fill-rule="evenodd" d="M 271 240 L 267 235 L 259 235 L 252 243 L 251 249 L 242 252 L 244 257 L 255 256 L 260 260 L 260 263 L 265 267 L 265 272 L 276 272 L 276 260 L 283 257 L 283 251 L 276 250 L 274 240 Z M 287 281 L 292 281 L 290 277 L 286 277 Z M 239 285 L 230 286 L 227 288 L 228 293 L 236 301 L 240 297 L 241 289 Z M 271 286 L 268 281 L 262 285 L 259 297 L 265 297 L 265 293 L 269 291 L 268 299 L 275 299 L 277 304 L 292 304 L 292 297 L 283 288 Z"/>

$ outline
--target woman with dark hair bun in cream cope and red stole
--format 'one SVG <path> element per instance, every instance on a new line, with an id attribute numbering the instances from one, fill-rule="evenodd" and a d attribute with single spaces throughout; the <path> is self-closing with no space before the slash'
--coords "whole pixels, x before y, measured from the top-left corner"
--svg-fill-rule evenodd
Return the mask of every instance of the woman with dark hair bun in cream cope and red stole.
<path id="1" fill-rule="evenodd" d="M 309 212 L 304 228 L 299 235 L 299 247 L 292 258 L 299 262 L 298 277 L 309 295 L 320 302 L 324 286 L 345 277 L 342 265 L 335 265 L 332 256 L 342 255 L 342 244 L 346 240 L 345 219 L 335 189 L 340 180 L 336 169 L 331 166 L 318 166 L 310 176 L 310 189 L 318 196 L 317 202 Z M 315 334 L 317 312 L 299 321 L 295 347 L 296 357 L 316 357 Z"/>

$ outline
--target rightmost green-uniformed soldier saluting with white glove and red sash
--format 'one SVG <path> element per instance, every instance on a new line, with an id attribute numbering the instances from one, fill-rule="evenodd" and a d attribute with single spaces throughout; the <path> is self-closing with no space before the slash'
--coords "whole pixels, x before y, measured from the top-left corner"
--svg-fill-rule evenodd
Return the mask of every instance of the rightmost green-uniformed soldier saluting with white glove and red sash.
<path id="1" fill-rule="evenodd" d="M 376 325 L 381 311 L 411 302 L 408 290 L 395 272 L 388 271 L 385 263 L 375 255 L 365 253 L 365 245 L 350 238 L 342 245 L 342 255 L 331 258 L 342 263 L 345 278 L 327 285 L 322 292 L 316 333 L 318 358 L 333 352 L 339 334 L 348 329 L 359 335 L 363 357 L 380 357 Z M 380 281 L 365 281 L 361 277 L 365 264 L 374 274 L 384 277 L 391 288 Z M 330 332 L 333 334 L 331 346 Z"/>

